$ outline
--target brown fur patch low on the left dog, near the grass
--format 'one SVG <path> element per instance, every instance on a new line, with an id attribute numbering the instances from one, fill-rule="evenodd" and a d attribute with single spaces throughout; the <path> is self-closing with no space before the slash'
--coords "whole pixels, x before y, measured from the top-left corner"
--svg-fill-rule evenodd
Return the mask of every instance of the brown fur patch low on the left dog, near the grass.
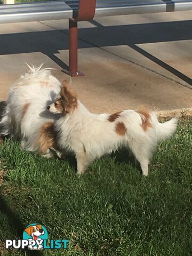
<path id="1" fill-rule="evenodd" d="M 38 151 L 40 154 L 46 154 L 46 151 L 51 147 L 57 148 L 54 123 L 47 122 L 41 127 L 39 132 L 38 146 Z"/>

